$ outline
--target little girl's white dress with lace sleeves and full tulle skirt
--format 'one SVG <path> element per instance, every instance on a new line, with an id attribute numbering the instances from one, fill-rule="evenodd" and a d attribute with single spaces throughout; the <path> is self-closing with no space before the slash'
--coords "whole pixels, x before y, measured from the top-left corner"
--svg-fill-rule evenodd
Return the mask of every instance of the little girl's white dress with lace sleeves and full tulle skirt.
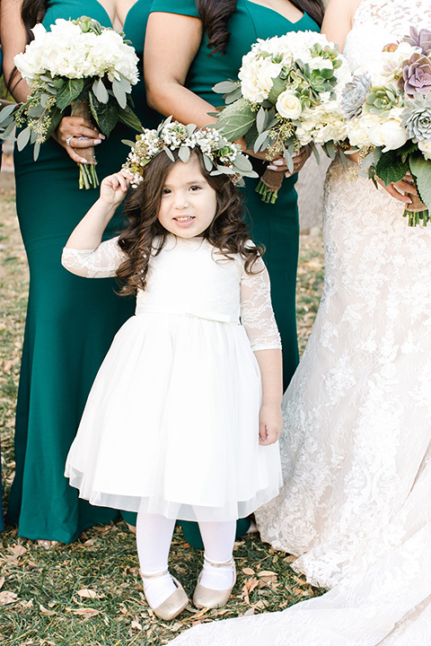
<path id="1" fill-rule="evenodd" d="M 63 264 L 86 277 L 115 275 L 125 259 L 117 240 L 65 249 Z M 136 316 L 101 365 L 67 458 L 81 497 L 220 521 L 243 518 L 278 493 L 278 443 L 259 446 L 253 350 L 280 340 L 268 272 L 261 260 L 253 271 L 201 238 L 170 235 L 151 258 Z"/>

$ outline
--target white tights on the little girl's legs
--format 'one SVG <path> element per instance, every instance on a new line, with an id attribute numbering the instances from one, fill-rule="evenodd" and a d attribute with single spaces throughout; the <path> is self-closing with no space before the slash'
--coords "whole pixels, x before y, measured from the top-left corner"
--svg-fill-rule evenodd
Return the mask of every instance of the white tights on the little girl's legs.
<path id="1" fill-rule="evenodd" d="M 144 576 L 145 597 L 152 607 L 160 606 L 176 586 L 169 573 L 154 577 L 168 569 L 175 520 L 159 514 L 139 512 L 136 521 L 136 546 L 141 572 Z M 233 568 L 216 568 L 212 563 L 228 563 L 233 557 L 236 522 L 199 522 L 205 546 L 204 571 L 201 584 L 209 589 L 229 589 L 233 583 Z M 153 575 L 153 577 L 152 577 Z M 145 577 L 148 577 L 145 579 Z"/>

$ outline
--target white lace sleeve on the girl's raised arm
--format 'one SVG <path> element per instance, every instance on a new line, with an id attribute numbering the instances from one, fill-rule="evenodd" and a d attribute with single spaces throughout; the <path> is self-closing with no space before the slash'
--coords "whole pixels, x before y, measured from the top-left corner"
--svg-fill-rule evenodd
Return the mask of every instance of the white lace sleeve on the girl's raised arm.
<path id="1" fill-rule="evenodd" d="M 119 249 L 119 237 L 101 242 L 97 249 L 63 249 L 61 264 L 84 278 L 110 278 L 126 259 Z"/>

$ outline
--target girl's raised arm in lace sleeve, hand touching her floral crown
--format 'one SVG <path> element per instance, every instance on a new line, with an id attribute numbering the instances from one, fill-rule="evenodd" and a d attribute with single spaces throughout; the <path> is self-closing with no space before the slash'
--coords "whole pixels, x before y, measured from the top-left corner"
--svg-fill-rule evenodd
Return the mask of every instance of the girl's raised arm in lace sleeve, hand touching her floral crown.
<path id="1" fill-rule="evenodd" d="M 101 197 L 76 226 L 61 258 L 62 265 L 84 278 L 110 278 L 125 260 L 118 239 L 101 242 L 101 236 L 128 192 L 128 173 L 121 170 L 101 182 Z"/>

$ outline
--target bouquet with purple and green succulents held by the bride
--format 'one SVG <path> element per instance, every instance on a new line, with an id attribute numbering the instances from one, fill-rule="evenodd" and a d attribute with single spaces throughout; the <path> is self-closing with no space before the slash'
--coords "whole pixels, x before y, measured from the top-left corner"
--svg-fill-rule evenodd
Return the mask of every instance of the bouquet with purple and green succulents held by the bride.
<path id="1" fill-rule="evenodd" d="M 431 209 L 431 31 L 410 29 L 383 48 L 373 71 L 356 70 L 341 106 L 347 136 L 369 178 L 388 186 L 409 172 L 418 196 L 404 212 L 424 225 Z"/>

